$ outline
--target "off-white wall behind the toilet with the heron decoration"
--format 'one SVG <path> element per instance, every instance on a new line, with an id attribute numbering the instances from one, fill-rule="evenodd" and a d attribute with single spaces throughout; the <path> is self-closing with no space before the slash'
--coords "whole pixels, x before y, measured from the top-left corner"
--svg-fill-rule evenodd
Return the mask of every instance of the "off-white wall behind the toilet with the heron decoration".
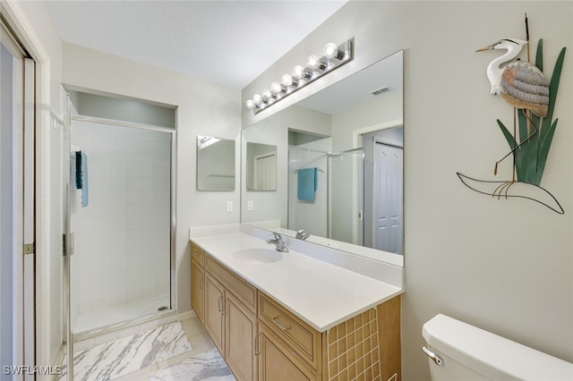
<path id="1" fill-rule="evenodd" d="M 475 49 L 524 38 L 525 12 L 532 40 L 544 38 L 547 72 L 560 48 L 569 49 L 543 178 L 564 216 L 526 200 L 487 198 L 456 176 L 491 178 L 507 151 L 495 120 L 510 121 L 511 108 L 489 95 L 485 77 L 497 54 Z M 405 49 L 406 381 L 430 378 L 421 331 L 437 313 L 573 361 L 571 20 L 573 4 L 565 2 L 351 2 L 244 89 L 247 99 L 329 41 L 355 37 L 355 60 L 334 79 Z M 244 110 L 244 124 L 253 119 Z"/>

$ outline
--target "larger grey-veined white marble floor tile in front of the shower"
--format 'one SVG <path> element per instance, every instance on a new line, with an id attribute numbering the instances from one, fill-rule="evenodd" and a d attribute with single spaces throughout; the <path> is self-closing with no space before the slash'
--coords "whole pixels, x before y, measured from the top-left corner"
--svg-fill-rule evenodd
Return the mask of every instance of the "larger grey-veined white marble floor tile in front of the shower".
<path id="1" fill-rule="evenodd" d="M 73 379 L 112 380 L 191 350 L 183 327 L 175 322 L 76 353 Z"/>

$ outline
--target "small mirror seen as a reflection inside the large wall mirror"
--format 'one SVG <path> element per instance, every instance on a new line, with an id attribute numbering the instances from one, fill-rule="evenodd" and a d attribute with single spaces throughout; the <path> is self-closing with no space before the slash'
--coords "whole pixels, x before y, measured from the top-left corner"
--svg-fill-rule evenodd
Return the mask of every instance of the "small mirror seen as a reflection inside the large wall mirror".
<path id="1" fill-rule="evenodd" d="M 247 190 L 277 190 L 277 146 L 247 142 Z"/>

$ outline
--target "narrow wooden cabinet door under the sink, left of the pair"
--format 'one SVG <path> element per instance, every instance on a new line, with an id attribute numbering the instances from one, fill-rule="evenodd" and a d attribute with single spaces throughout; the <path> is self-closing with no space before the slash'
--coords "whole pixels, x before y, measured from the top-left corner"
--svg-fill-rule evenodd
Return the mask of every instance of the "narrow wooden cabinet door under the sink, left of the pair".
<path id="1" fill-rule="evenodd" d="M 209 273 L 205 272 L 205 321 L 204 325 L 209 332 L 218 351 L 225 353 L 225 320 L 223 308 L 225 307 L 225 293 Z"/>

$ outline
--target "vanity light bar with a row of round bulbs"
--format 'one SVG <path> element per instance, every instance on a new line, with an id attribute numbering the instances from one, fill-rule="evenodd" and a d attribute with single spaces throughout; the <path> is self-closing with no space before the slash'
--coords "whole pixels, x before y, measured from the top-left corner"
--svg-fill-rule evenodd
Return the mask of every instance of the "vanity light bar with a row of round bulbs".
<path id="1" fill-rule="evenodd" d="M 329 42 L 324 46 L 321 58 L 316 55 L 309 56 L 306 60 L 306 66 L 296 65 L 292 74 L 283 75 L 280 83 L 272 82 L 269 89 L 262 90 L 261 94 L 254 94 L 251 99 L 247 99 L 245 106 L 252 109 L 254 114 L 258 114 L 280 99 L 288 97 L 313 80 L 318 80 L 323 75 L 353 59 L 353 39 L 349 39 L 338 46 Z"/>

